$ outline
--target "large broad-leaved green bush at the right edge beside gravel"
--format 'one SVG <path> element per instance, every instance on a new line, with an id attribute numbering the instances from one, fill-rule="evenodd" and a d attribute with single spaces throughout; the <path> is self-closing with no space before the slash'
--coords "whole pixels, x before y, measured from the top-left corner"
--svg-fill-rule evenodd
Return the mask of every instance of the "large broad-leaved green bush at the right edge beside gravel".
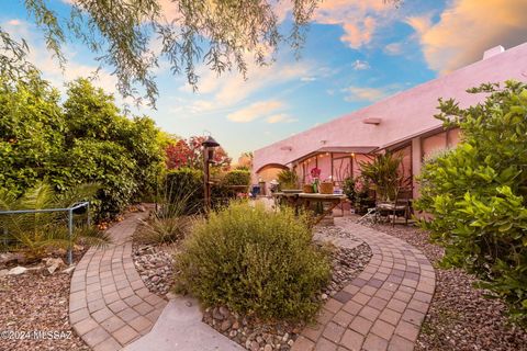
<path id="1" fill-rule="evenodd" d="M 486 100 L 460 109 L 440 100 L 445 125 L 462 143 L 423 167 L 417 210 L 433 239 L 446 248 L 444 264 L 478 274 L 502 297 L 512 317 L 527 321 L 527 86 L 483 84 Z"/>

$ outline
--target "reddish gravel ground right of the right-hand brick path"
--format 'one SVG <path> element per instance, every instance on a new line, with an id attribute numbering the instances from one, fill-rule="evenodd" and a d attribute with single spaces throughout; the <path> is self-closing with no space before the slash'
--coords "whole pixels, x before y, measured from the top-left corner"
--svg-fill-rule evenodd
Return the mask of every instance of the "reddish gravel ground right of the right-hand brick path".
<path id="1" fill-rule="evenodd" d="M 436 292 L 416 350 L 527 350 L 527 330 L 508 324 L 503 303 L 473 287 L 474 276 L 437 267 L 444 251 L 428 241 L 426 231 L 400 225 L 372 227 L 419 248 L 436 268 Z"/>

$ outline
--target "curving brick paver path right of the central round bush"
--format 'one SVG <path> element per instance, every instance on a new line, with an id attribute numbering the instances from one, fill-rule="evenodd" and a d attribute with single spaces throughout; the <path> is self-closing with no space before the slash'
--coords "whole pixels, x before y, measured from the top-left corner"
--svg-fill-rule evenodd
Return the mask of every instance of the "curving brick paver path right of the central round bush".
<path id="1" fill-rule="evenodd" d="M 292 351 L 413 350 L 435 290 L 426 257 L 410 244 L 344 218 L 337 225 L 373 252 L 367 268 L 329 298 Z M 330 239 L 330 238 L 329 238 Z"/>

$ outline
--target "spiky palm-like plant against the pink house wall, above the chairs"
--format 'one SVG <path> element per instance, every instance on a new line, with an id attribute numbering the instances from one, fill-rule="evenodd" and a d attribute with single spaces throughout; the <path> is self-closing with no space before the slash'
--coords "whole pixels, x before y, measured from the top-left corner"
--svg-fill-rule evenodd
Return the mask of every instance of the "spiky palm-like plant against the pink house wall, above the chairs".
<path id="1" fill-rule="evenodd" d="M 359 162 L 361 176 L 371 182 L 379 200 L 395 200 L 403 183 L 402 161 L 401 154 L 386 152 L 378 155 L 372 162 Z"/>

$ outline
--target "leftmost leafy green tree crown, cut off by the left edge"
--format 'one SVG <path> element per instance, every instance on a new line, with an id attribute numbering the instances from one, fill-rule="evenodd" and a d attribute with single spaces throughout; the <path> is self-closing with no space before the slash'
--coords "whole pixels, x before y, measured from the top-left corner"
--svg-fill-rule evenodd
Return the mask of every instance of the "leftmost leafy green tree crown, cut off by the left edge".
<path id="1" fill-rule="evenodd" d="M 57 167 L 66 125 L 59 93 L 36 72 L 0 78 L 0 188 L 18 194 Z"/>

